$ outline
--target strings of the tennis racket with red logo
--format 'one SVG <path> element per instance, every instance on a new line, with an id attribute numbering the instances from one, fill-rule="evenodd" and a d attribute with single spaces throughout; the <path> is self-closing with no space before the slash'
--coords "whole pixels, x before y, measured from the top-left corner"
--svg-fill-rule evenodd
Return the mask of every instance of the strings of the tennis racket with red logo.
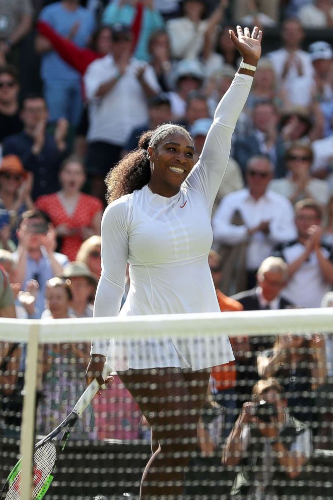
<path id="1" fill-rule="evenodd" d="M 43 490 L 48 476 L 51 474 L 56 461 L 56 447 L 52 441 L 44 443 L 37 448 L 34 454 L 34 489 L 32 499 L 38 498 L 38 494 Z M 21 474 L 20 469 L 12 480 L 6 500 L 20 500 L 21 498 Z"/>

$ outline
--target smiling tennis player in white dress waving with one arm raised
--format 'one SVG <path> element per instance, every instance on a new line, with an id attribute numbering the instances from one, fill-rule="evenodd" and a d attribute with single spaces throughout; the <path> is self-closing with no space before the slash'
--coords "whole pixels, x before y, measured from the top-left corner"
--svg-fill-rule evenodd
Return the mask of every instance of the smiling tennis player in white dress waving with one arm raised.
<path id="1" fill-rule="evenodd" d="M 139 148 L 107 177 L 110 204 L 102 220 L 95 316 L 220 310 L 208 266 L 211 212 L 260 57 L 262 33 L 237 26 L 237 35 L 230 30 L 230 36 L 243 60 L 217 106 L 198 162 L 193 166 L 188 132 L 165 124 L 143 134 Z M 127 262 L 130 287 L 120 310 Z M 180 498 L 211 367 L 234 359 L 228 339 L 93 342 L 88 384 L 94 377 L 103 384 L 106 356 L 152 428 L 153 455 L 140 499 Z"/>

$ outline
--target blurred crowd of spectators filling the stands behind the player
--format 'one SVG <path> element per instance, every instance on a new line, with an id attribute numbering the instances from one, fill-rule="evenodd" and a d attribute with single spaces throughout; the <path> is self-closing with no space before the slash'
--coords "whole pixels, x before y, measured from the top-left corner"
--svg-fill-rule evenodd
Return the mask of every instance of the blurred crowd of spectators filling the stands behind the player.
<path id="1" fill-rule="evenodd" d="M 104 178 L 142 132 L 169 121 L 188 128 L 199 156 L 240 62 L 228 33 L 236 24 L 261 27 L 263 57 L 213 213 L 209 262 L 221 310 L 333 306 L 333 0 L 0 0 L 0 265 L 15 299 L 15 310 L 0 303 L 0 316 L 92 316 Z M 237 448 L 233 426 L 257 418 L 262 394 L 281 401 L 279 422 L 288 406 L 291 433 L 301 422 L 295 450 L 309 455 L 313 428 L 329 418 L 314 408 L 324 399 L 318 388 L 332 387 L 331 343 L 330 334 L 233 339 L 236 361 L 213 370 L 207 404 L 223 408 L 226 464 L 248 448 L 249 432 Z M 2 348 L 2 371 L 6 362 L 23 373 L 22 349 Z M 61 382 L 52 360 L 70 353 L 83 372 L 89 346 L 57 349 L 44 349 L 40 433 L 83 389 L 75 370 L 72 386 Z M 12 372 L 1 382 L 7 395 L 21 384 Z M 124 414 L 119 426 L 136 437 L 140 412 Z M 81 436 L 85 425 L 89 436 L 113 436 L 92 412 Z M 203 420 L 205 453 L 216 447 L 209 428 Z M 278 434 L 267 439 L 273 450 L 281 444 Z"/>

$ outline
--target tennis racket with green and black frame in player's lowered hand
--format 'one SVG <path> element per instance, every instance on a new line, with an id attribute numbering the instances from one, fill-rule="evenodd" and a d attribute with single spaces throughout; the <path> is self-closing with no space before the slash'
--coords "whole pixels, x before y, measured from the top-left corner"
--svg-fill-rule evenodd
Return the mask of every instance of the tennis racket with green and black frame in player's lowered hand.
<path id="1" fill-rule="evenodd" d="M 111 373 L 111 368 L 104 365 L 103 380 Z M 81 413 L 87 408 L 100 389 L 96 379 L 87 387 L 71 413 L 47 436 L 35 445 L 33 467 L 32 500 L 41 500 L 50 486 L 62 450 L 66 446 L 73 426 Z M 55 439 L 61 434 L 60 439 Z M 1 500 L 20 500 L 21 498 L 21 460 L 15 465 L 2 489 Z"/>

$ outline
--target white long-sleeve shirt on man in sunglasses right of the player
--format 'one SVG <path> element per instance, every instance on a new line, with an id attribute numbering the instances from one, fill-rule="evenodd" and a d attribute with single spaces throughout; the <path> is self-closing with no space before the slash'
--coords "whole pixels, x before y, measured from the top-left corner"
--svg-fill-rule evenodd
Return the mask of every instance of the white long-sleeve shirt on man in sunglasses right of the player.
<path id="1" fill-rule="evenodd" d="M 236 211 L 244 224 L 232 223 Z M 244 188 L 226 195 L 216 209 L 212 221 L 214 240 L 228 245 L 247 241 L 246 268 L 256 270 L 271 255 L 274 246 L 297 237 L 294 217 L 293 206 L 285 196 L 267 191 L 254 200 Z M 258 231 L 249 236 L 247 230 L 263 221 L 270 223 L 269 234 Z"/>

